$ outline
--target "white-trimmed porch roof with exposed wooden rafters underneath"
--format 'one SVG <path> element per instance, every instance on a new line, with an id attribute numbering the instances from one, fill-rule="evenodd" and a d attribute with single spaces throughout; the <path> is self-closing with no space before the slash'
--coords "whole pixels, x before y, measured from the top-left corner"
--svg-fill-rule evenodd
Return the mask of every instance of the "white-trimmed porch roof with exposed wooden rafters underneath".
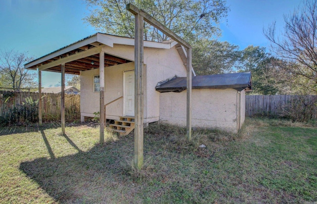
<path id="1" fill-rule="evenodd" d="M 113 48 L 114 44 L 134 46 L 134 39 L 104 33 L 96 33 L 82 40 L 60 48 L 24 65 L 26 69 L 61 72 L 61 64 L 65 64 L 65 73 L 80 74 L 80 71 L 99 68 L 99 53 L 103 47 Z M 176 42 L 157 43 L 144 41 L 144 47 L 170 49 Z M 114 56 L 105 53 L 105 66 L 132 62 L 125 56 Z"/>

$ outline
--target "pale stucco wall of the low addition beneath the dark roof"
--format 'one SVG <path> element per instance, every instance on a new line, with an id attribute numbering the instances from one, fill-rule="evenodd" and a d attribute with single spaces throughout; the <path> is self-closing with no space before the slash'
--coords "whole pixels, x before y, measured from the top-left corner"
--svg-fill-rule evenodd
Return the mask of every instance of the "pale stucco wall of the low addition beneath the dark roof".
<path id="1" fill-rule="evenodd" d="M 192 90 L 192 127 L 216 128 L 236 133 L 237 93 L 234 89 Z M 244 98 L 243 96 L 241 95 L 241 98 Z M 244 102 L 241 101 L 241 104 Z M 186 91 L 160 94 L 159 119 L 162 122 L 186 126 Z M 241 117 L 240 122 L 243 121 L 244 117 Z"/>

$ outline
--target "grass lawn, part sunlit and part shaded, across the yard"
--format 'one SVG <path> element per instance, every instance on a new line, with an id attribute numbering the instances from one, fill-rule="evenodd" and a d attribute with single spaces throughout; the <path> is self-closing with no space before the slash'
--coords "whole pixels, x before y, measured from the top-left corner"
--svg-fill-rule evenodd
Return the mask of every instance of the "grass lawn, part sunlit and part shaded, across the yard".
<path id="1" fill-rule="evenodd" d="M 59 124 L 0 128 L 0 203 L 314 203 L 317 128 L 247 119 L 239 135 L 150 124 L 134 136 Z M 200 148 L 204 144 L 206 148 Z"/>

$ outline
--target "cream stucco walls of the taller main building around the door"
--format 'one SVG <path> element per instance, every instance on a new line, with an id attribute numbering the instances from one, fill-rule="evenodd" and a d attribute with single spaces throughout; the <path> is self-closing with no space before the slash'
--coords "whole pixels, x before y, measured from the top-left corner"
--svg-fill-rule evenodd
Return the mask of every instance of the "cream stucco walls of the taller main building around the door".
<path id="1" fill-rule="evenodd" d="M 134 47 L 114 45 L 104 47 L 108 54 L 134 61 Z M 175 47 L 171 49 L 144 48 L 144 122 L 159 120 L 159 92 L 155 87 L 159 81 L 175 75 L 186 76 L 184 66 Z M 123 94 L 123 71 L 134 70 L 134 63 L 127 63 L 105 68 L 105 104 Z M 93 92 L 93 76 L 99 75 L 99 69 L 81 72 L 81 113 L 82 116 L 94 116 L 99 111 L 99 92 Z M 118 95 L 120 93 L 120 95 Z M 117 119 L 123 114 L 123 99 L 107 106 L 106 117 Z"/>

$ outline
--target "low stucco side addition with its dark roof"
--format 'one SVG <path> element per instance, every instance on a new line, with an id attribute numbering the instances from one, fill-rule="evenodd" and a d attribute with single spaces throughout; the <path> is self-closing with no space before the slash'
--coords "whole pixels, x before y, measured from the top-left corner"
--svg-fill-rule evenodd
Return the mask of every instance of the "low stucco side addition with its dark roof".
<path id="1" fill-rule="evenodd" d="M 194 76 L 192 126 L 237 133 L 245 120 L 245 92 L 252 89 L 251 72 Z M 186 125 L 186 78 L 158 83 L 159 119 Z"/>

